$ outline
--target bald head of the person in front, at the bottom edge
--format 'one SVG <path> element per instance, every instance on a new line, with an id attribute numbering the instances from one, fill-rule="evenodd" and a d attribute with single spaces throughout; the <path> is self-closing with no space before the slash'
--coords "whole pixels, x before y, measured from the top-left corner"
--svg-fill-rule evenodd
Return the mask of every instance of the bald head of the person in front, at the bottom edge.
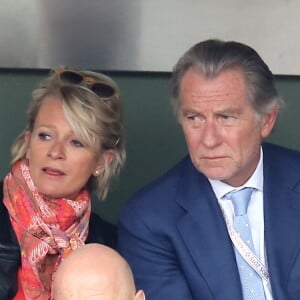
<path id="1" fill-rule="evenodd" d="M 128 263 L 113 249 L 87 244 L 69 254 L 53 283 L 54 300 L 143 300 Z"/>

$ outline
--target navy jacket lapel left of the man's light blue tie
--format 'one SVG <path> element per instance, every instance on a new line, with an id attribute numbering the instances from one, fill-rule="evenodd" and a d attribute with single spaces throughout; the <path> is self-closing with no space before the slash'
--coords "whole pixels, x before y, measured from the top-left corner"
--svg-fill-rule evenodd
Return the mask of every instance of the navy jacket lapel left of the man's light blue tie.
<path id="1" fill-rule="evenodd" d="M 178 231 L 213 298 L 241 299 L 235 255 L 217 199 L 191 164 L 177 202 L 186 211 L 178 220 Z"/>

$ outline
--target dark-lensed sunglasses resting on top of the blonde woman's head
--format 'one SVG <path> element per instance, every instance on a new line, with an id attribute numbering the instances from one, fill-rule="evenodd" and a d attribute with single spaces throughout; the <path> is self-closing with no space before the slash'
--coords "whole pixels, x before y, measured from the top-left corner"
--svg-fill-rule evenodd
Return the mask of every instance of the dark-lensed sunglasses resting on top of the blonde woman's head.
<path id="1" fill-rule="evenodd" d="M 88 88 L 97 96 L 105 98 L 104 100 L 118 94 L 118 91 L 116 91 L 108 83 L 92 76 L 82 75 L 81 73 L 71 70 L 57 72 L 57 76 L 62 82 L 87 85 Z"/>

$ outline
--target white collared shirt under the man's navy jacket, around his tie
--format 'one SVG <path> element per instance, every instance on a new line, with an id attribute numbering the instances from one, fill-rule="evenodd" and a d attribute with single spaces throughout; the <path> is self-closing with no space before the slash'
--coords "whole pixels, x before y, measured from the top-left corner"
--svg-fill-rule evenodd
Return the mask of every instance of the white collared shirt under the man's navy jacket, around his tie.
<path id="1" fill-rule="evenodd" d="M 263 152 L 260 150 L 260 160 L 258 162 L 257 168 L 249 180 L 240 187 L 232 187 L 219 180 L 211 180 L 209 182 L 212 189 L 218 198 L 218 201 L 222 201 L 222 206 L 224 208 L 225 214 L 228 220 L 232 223 L 234 217 L 234 208 L 231 200 L 222 199 L 222 197 L 230 191 L 240 190 L 243 187 L 255 188 L 251 195 L 249 202 L 247 214 L 249 223 L 251 226 L 252 239 L 254 244 L 254 249 L 259 260 L 265 265 L 266 269 L 266 253 L 265 253 L 265 243 L 264 243 L 264 207 L 263 207 Z M 273 300 L 271 288 L 263 281 L 264 292 L 266 300 Z"/>

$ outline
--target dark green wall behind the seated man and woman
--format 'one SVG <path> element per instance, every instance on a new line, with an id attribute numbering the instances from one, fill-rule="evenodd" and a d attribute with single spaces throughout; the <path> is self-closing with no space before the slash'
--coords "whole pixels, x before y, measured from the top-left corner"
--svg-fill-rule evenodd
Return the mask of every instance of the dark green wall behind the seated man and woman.
<path id="1" fill-rule="evenodd" d="M 10 146 L 23 130 L 31 92 L 48 70 L 0 70 L 0 178 L 9 170 Z M 170 74 L 104 72 L 119 85 L 125 115 L 127 162 L 105 202 L 93 209 L 116 222 L 121 206 L 137 189 L 162 174 L 185 153 L 185 143 L 170 105 Z M 271 142 L 300 149 L 300 77 L 276 76 L 286 102 Z"/>

